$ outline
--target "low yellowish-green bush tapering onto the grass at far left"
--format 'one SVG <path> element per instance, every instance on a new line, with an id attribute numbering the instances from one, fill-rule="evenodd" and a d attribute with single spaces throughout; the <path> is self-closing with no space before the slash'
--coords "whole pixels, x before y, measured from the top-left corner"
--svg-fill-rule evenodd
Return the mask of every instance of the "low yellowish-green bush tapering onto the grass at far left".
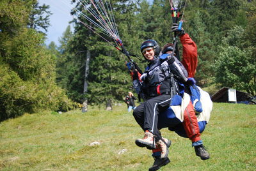
<path id="1" fill-rule="evenodd" d="M 76 107 L 51 82 L 23 81 L 6 64 L 0 64 L 0 121 L 38 110 L 67 111 Z"/>

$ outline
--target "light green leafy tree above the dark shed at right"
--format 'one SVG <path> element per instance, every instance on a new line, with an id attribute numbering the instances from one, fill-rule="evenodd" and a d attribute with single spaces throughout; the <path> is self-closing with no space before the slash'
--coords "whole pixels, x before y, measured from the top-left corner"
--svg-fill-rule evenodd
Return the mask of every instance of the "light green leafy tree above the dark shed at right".
<path id="1" fill-rule="evenodd" d="M 216 62 L 216 82 L 256 94 L 256 63 L 254 45 L 244 47 L 244 29 L 234 27 L 223 39 L 220 56 Z"/>

